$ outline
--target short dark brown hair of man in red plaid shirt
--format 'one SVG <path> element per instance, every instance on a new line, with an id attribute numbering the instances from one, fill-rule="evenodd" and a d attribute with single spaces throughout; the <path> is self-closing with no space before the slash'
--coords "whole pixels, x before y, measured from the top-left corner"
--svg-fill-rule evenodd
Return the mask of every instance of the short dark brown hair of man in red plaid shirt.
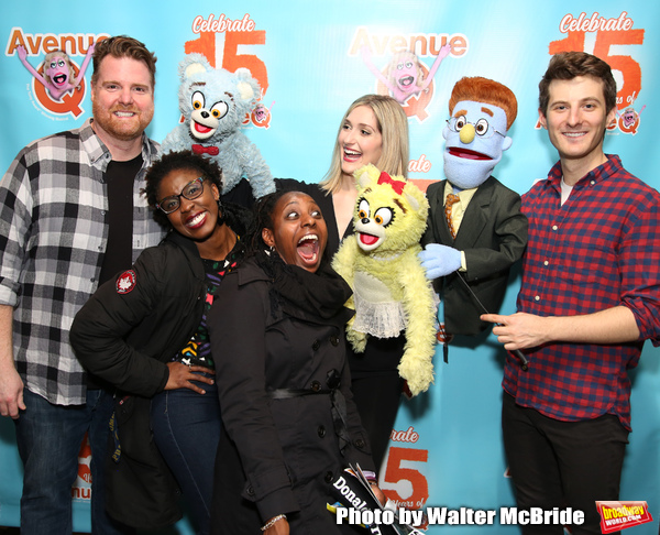
<path id="1" fill-rule="evenodd" d="M 539 110 L 548 114 L 550 102 L 550 83 L 552 80 L 572 80 L 578 76 L 591 76 L 603 81 L 605 111 L 609 113 L 616 106 L 616 81 L 612 68 L 600 57 L 586 52 L 562 52 L 550 58 L 548 69 L 539 83 Z"/>

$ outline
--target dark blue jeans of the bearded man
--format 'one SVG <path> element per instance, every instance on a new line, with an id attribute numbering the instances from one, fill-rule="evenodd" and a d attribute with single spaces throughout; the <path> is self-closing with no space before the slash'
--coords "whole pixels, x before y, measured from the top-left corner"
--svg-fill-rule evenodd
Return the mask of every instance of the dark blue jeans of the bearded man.
<path id="1" fill-rule="evenodd" d="M 86 405 L 53 405 L 23 390 L 26 410 L 15 421 L 16 443 L 23 461 L 21 535 L 70 534 L 72 485 L 78 474 L 78 451 L 85 433 L 91 446 L 91 529 L 95 535 L 125 533 L 105 507 L 103 465 L 108 455 L 108 422 L 112 395 L 94 390 Z"/>

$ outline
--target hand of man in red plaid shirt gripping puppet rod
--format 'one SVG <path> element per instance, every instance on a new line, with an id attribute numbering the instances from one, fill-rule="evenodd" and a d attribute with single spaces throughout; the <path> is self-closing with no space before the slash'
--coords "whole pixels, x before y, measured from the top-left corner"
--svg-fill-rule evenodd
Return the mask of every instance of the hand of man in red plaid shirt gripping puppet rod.
<path id="1" fill-rule="evenodd" d="M 482 321 L 496 324 L 493 327 L 493 335 L 508 351 L 536 348 L 551 341 L 546 325 L 549 319 L 526 313 L 516 313 L 510 316 L 499 314 L 483 314 L 481 316 Z"/>

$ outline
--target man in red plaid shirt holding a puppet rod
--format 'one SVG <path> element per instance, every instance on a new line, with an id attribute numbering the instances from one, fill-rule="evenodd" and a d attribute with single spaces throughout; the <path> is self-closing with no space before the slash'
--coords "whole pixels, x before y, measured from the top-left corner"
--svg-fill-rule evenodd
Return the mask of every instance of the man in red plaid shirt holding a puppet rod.
<path id="1" fill-rule="evenodd" d="M 539 84 L 539 116 L 559 162 L 522 196 L 529 241 L 518 313 L 484 315 L 507 350 L 504 445 L 519 507 L 585 513 L 573 535 L 601 533 L 596 500 L 618 500 L 630 432 L 628 370 L 660 345 L 660 194 L 603 152 L 616 114 L 609 66 L 558 54 Z M 563 534 L 562 526 L 522 533 Z"/>

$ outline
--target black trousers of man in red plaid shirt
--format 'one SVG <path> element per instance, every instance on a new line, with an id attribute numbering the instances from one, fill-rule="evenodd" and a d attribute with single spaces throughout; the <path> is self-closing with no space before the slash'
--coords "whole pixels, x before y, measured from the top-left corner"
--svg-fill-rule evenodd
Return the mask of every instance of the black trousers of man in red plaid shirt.
<path id="1" fill-rule="evenodd" d="M 601 534 L 596 501 L 618 500 L 628 430 L 605 414 L 583 422 L 561 422 L 516 405 L 504 393 L 504 448 L 519 509 L 571 506 L 584 511 L 584 524 L 571 533 Z M 563 535 L 562 526 L 527 525 L 522 534 Z"/>

